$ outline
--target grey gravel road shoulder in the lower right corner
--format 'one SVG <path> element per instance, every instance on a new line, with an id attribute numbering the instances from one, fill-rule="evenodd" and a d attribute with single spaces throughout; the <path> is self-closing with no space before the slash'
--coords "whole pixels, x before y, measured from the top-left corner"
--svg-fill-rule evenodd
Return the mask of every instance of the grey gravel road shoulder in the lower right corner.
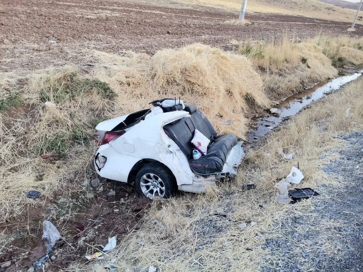
<path id="1" fill-rule="evenodd" d="M 340 157 L 324 171 L 346 185 L 319 186 L 311 213 L 276 224 L 281 235 L 266 240 L 272 258 L 262 271 L 363 271 L 363 131 L 341 139 L 346 145 L 332 150 Z"/>

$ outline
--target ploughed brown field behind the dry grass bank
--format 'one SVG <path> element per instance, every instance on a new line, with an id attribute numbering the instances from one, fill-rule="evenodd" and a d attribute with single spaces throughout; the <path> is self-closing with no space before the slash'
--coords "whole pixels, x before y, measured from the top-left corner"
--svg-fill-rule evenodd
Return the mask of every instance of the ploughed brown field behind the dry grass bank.
<path id="1" fill-rule="evenodd" d="M 346 22 L 251 13 L 246 19 L 252 25 L 232 25 L 225 21 L 237 18 L 237 12 L 176 1 L 150 3 L 140 0 L 5 0 L 0 4 L 0 44 L 4 43 L 2 71 L 87 63 L 91 49 L 152 54 L 161 48 L 194 42 L 228 49 L 232 39 L 266 40 L 285 34 L 305 38 L 317 32 L 349 34 Z M 355 33 L 350 33 L 362 34 L 360 25 Z M 50 44 L 48 40 L 57 43 Z"/>

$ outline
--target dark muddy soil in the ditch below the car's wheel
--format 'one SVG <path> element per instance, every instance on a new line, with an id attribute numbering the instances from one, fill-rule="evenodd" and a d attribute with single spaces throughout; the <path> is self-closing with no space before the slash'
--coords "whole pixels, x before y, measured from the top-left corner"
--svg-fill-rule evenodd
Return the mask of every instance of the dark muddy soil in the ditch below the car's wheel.
<path id="1" fill-rule="evenodd" d="M 48 261 L 45 271 L 66 268 L 72 261 L 86 261 L 85 256 L 97 252 L 95 248 L 102 250 L 97 245 L 105 246 L 109 237 L 117 236 L 120 241 L 131 229 L 137 229 L 138 221 L 151 201 L 140 198 L 135 188 L 126 184 L 109 181 L 100 186 L 103 186 L 103 191 L 96 193 L 95 190 L 94 198 L 86 203 L 74 198 L 77 194 L 62 203 L 41 196 L 34 199 L 34 206 L 29 206 L 22 215 L 11 222 L 0 224 L 0 232 L 12 235 L 16 233 L 15 239 L 12 239 L 10 246 L 7 244 L 0 257 L 0 264 L 12 260 L 11 266 L 5 271 L 25 272 L 34 261 L 46 254 L 45 242 L 41 240 L 42 221 L 54 212 L 57 217 L 69 212 L 70 217 L 66 222 L 52 221 L 61 232 L 62 239 L 54 246 L 52 256 L 56 258 Z M 115 195 L 107 196 L 111 189 L 115 191 Z M 57 193 L 50 198 L 57 199 Z M 36 207 L 37 203 L 43 201 L 47 205 Z M 48 208 L 45 209 L 44 206 Z"/>

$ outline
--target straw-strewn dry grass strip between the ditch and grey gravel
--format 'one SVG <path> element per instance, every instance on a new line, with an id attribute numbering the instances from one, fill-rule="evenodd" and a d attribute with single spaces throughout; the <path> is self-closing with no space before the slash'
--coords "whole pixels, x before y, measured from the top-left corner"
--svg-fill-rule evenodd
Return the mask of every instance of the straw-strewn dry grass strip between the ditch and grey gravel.
<path id="1" fill-rule="evenodd" d="M 305 176 L 299 186 L 315 187 L 322 182 L 339 186 L 336 179 L 321 171 L 319 156 L 340 145 L 334 135 L 357 128 L 352 121 L 363 128 L 362 86 L 360 79 L 342 92 L 314 103 L 280 131 L 272 132 L 268 143 L 246 154 L 237 179 L 216 188 L 214 193 L 156 199 L 140 229 L 131 232 L 112 256 L 88 266 L 74 264 L 68 271 L 101 271 L 100 267 L 111 260 L 121 271 L 143 271 L 149 265 L 161 271 L 259 269 L 271 258 L 262 245 L 265 239 L 281 235 L 276 232 L 281 219 L 293 213 L 311 214 L 313 218 L 309 200 L 295 205 L 277 205 L 273 200 L 274 184 L 290 172 L 291 166 L 299 161 Z M 348 106 L 351 115 L 346 117 Z M 293 153 L 293 160 L 278 156 L 278 148 Z M 257 189 L 246 191 L 243 185 L 248 183 L 256 184 Z M 257 224 L 251 226 L 251 221 Z M 247 227 L 238 227 L 242 222 Z M 331 222 L 320 223 L 322 229 L 329 230 L 329 226 Z M 334 254 L 329 244 L 332 235 L 328 233 L 320 241 L 328 254 Z"/>

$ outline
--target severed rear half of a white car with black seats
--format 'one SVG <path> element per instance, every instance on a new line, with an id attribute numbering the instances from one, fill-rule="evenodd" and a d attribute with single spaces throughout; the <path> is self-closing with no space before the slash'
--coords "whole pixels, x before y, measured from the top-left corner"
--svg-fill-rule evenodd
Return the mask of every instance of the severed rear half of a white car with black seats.
<path id="1" fill-rule="evenodd" d="M 140 195 L 169 198 L 176 190 L 203 193 L 223 177 L 234 177 L 244 152 L 233 134 L 219 135 L 194 104 L 161 99 L 154 108 L 103 121 L 96 127 L 101 146 L 94 158 L 97 173 L 135 182 Z M 168 106 L 170 103 L 174 106 Z M 179 104 L 176 104 L 178 102 Z M 207 154 L 193 160 L 195 129 L 211 140 Z"/>

